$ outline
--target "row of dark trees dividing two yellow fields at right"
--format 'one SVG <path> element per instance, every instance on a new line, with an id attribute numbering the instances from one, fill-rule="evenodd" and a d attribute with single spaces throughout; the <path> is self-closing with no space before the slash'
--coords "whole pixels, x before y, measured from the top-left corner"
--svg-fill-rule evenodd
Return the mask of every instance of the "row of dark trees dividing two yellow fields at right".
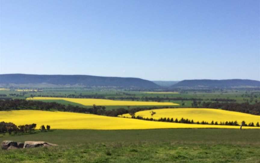
<path id="1" fill-rule="evenodd" d="M 220 122 L 218 123 L 218 121 L 211 121 L 211 123 L 207 122 L 207 121 L 197 121 L 197 122 L 194 122 L 193 119 L 190 120 L 190 119 L 184 119 L 184 118 L 181 118 L 180 120 L 178 120 L 178 118 L 176 118 L 174 120 L 174 118 L 160 118 L 158 120 L 156 119 L 153 119 L 153 118 L 143 118 L 141 116 L 132 116 L 132 118 L 135 118 L 135 119 L 141 119 L 141 120 L 147 120 L 147 121 L 162 121 L 162 122 L 174 122 L 174 123 L 187 123 L 187 124 L 201 124 L 201 125 L 229 125 L 229 126 L 239 126 L 239 124 L 237 123 L 237 121 L 226 121 L 226 122 Z M 243 126 L 252 126 L 252 127 L 260 127 L 259 125 L 259 122 L 256 123 L 256 125 L 254 125 L 253 122 L 249 123 L 248 125 L 246 124 L 245 121 L 242 121 L 243 123 Z"/>

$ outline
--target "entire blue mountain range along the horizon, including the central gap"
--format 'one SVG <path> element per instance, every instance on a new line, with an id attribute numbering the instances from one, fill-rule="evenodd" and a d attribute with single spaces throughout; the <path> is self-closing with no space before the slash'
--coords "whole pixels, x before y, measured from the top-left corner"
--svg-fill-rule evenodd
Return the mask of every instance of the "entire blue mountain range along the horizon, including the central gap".
<path id="1" fill-rule="evenodd" d="M 260 81 L 247 79 L 148 81 L 141 78 L 90 75 L 0 74 L 0 87 L 124 87 L 124 88 L 245 88 L 260 87 Z"/>

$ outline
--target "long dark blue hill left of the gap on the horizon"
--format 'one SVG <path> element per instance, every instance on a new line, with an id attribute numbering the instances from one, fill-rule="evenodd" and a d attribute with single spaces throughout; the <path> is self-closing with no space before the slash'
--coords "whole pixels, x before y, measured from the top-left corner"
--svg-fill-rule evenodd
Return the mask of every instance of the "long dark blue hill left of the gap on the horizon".
<path id="1" fill-rule="evenodd" d="M 55 86 L 113 86 L 113 87 L 159 87 L 141 78 L 101 77 L 90 75 L 28 75 L 0 74 L 1 86 L 55 87 Z"/>

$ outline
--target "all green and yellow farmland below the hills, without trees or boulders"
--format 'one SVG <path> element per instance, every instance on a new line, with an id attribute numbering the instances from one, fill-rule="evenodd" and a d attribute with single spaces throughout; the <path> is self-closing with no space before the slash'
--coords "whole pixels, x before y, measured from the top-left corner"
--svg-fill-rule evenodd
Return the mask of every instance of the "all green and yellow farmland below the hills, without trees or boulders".
<path id="1" fill-rule="evenodd" d="M 26 90 L 27 88 L 23 88 Z M 148 91 L 148 90 L 147 90 Z M 107 113 L 117 109 L 142 111 L 138 116 L 157 118 L 188 118 L 194 121 L 246 121 L 256 122 L 259 115 L 230 112 L 222 109 L 200 108 L 203 102 L 231 102 L 236 104 L 259 103 L 260 93 L 254 90 L 216 90 L 211 92 L 178 91 L 178 94 L 156 90 L 130 91 L 120 89 L 43 89 L 42 91 L 0 90 L 3 98 L 28 99 L 27 110 L 23 105 L 11 111 L 1 111 L 0 121 L 16 125 L 36 123 L 50 125 L 51 131 L 25 134 L 0 134 L 0 141 L 43 140 L 56 143 L 58 147 L 3 151 L 1 162 L 259 162 L 260 128 L 234 125 L 202 125 L 146 121 L 134 118 L 86 114 L 95 105 L 105 106 Z M 151 91 L 149 91 L 151 92 Z M 177 92 L 177 91 L 172 91 Z M 47 98 L 48 97 L 48 100 Z M 64 99 L 65 98 L 65 99 Z M 68 100 L 70 99 L 70 100 Z M 85 103 L 82 103 L 82 100 Z M 24 103 L 21 101 L 20 103 Z M 57 102 L 66 111 L 43 111 L 42 102 Z M 102 101 L 105 103 L 96 103 Z M 34 104 L 32 102 L 35 102 Z M 88 102 L 88 103 L 86 103 Z M 116 102 L 116 103 L 115 103 Z M 167 105 L 161 105 L 163 102 Z M 197 103 L 197 108 L 189 108 Z M 135 105 L 129 106 L 129 103 Z M 153 103 L 153 105 L 147 105 Z M 169 105 L 169 103 L 171 105 Z M 177 103 L 179 105 L 172 105 Z M 14 101 L 14 106 L 18 102 Z M 33 105 L 32 105 L 33 104 Z M 156 105 L 155 105 L 156 104 Z M 157 105 L 160 104 L 160 105 Z M 30 106 L 31 105 L 31 106 Z M 71 106 L 81 108 L 82 113 L 73 112 Z M 113 106 L 114 105 L 114 106 Z M 30 106 L 30 107 L 29 107 Z M 48 106 L 48 105 L 46 105 Z M 59 105 L 54 105 L 59 106 Z M 68 107 L 70 106 L 70 107 Z M 166 108 L 168 109 L 154 109 Z M 35 110 L 30 110 L 35 109 Z M 57 107 L 59 108 L 59 107 Z M 68 109 L 67 109 L 68 108 Z M 147 110 L 149 109 L 150 110 Z M 151 109 L 152 108 L 152 109 Z M 169 109 L 174 108 L 174 109 Z M 244 107 L 242 107 L 244 108 Z M 14 109 L 14 110 L 13 110 Z M 18 109 L 18 110 L 17 110 Z M 101 109 L 101 107 L 99 108 Z M 180 110 L 179 110 L 180 109 Z M 234 109 L 232 107 L 232 109 Z M 235 108 L 236 109 L 236 108 Z M 8 110 L 8 107 L 7 107 Z M 48 109 L 47 109 L 48 110 Z M 101 109 L 103 110 L 103 109 Z M 179 112 L 178 112 L 179 110 Z M 70 111 L 70 112 L 68 112 Z M 151 116 L 151 111 L 156 112 Z M 143 114 L 143 113 L 145 114 Z M 142 114 L 141 114 L 142 113 Z M 257 112 L 256 112 L 257 113 Z M 97 114 L 97 113 L 95 113 Z M 122 113 L 123 114 L 123 113 Z M 117 116 L 117 115 L 116 115 Z M 120 116 L 120 114 L 119 114 Z M 125 115 L 126 116 L 126 115 Z M 255 123 L 256 124 L 256 123 Z M 239 124 L 240 125 L 240 124 Z M 2 137 L 1 137 L 2 136 Z"/>

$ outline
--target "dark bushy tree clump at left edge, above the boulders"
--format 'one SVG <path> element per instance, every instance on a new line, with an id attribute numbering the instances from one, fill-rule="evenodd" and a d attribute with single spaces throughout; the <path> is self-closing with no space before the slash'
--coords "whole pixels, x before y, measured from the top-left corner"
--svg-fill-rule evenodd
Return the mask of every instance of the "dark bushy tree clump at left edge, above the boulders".
<path id="1" fill-rule="evenodd" d="M 17 126 L 12 122 L 0 122 L 0 134 L 9 133 L 10 135 L 13 134 L 24 134 L 24 133 L 31 133 L 34 132 L 36 128 L 36 124 L 30 125 L 20 125 Z"/>

